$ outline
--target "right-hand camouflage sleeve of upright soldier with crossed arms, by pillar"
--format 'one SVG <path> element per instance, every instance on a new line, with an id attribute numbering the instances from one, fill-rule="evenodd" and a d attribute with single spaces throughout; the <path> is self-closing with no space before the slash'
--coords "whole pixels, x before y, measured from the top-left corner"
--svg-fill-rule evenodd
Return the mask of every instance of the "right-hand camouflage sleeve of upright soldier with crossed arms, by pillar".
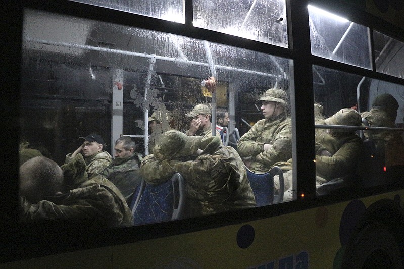
<path id="1" fill-rule="evenodd" d="M 292 157 L 291 126 L 285 124 L 276 135 L 272 147 L 259 153 L 255 159 L 263 164 L 272 166 L 276 162 L 286 161 Z"/>

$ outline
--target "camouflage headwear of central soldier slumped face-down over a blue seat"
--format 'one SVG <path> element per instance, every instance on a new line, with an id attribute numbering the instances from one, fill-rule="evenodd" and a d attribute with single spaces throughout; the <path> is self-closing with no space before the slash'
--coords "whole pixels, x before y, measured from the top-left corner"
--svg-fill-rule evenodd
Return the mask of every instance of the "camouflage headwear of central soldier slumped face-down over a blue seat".
<path id="1" fill-rule="evenodd" d="M 187 136 L 180 131 L 167 131 L 155 146 L 153 154 L 157 160 L 190 156 L 198 151 L 202 139 L 201 135 Z"/>

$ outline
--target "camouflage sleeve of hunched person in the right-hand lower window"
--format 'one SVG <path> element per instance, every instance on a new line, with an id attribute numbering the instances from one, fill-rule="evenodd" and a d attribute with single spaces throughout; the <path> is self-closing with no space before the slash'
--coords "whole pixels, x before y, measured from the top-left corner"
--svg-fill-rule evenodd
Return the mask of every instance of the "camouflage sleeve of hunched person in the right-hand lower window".
<path id="1" fill-rule="evenodd" d="M 354 173 L 362 152 L 360 140 L 345 143 L 331 157 L 316 155 L 316 173 L 328 180 Z"/>

